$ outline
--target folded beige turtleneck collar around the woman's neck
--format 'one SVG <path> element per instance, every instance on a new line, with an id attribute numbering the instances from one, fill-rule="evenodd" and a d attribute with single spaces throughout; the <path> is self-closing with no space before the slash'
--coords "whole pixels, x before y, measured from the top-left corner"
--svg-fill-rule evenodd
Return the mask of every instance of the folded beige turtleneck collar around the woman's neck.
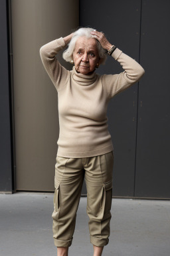
<path id="1" fill-rule="evenodd" d="M 75 67 L 72 68 L 72 78 L 78 85 L 92 85 L 97 79 L 95 71 L 90 75 L 83 75 L 76 71 Z"/>

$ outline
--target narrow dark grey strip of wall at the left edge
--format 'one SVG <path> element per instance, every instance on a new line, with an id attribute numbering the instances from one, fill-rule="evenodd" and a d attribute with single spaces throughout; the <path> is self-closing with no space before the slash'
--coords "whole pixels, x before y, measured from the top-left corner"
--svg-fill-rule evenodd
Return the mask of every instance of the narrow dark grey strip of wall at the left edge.
<path id="1" fill-rule="evenodd" d="M 9 106 L 9 65 L 7 39 L 7 6 L 0 1 L 0 191 L 11 192 L 11 135 Z"/>

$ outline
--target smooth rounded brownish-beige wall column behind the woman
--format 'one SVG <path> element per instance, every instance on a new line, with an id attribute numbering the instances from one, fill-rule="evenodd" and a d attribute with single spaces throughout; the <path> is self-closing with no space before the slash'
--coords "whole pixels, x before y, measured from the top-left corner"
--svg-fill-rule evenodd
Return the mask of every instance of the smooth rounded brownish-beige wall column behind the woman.
<path id="1" fill-rule="evenodd" d="M 58 140 L 57 92 L 39 49 L 78 26 L 78 0 L 12 0 L 16 189 L 53 191 Z M 70 63 L 58 59 L 65 67 Z"/>

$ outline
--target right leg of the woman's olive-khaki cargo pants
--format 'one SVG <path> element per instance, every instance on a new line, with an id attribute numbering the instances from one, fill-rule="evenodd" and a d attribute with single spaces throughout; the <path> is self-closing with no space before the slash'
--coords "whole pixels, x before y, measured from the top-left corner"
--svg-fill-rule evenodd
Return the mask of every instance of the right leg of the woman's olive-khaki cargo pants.
<path id="1" fill-rule="evenodd" d="M 107 245 L 109 241 L 113 165 L 112 152 L 90 157 L 84 165 L 90 241 L 96 246 Z"/>

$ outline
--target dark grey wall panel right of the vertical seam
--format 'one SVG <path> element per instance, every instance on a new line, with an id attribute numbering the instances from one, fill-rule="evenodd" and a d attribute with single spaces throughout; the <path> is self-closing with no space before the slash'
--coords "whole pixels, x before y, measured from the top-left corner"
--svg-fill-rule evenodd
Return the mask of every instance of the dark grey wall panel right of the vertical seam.
<path id="1" fill-rule="evenodd" d="M 170 198 L 170 1 L 142 1 L 136 197 Z"/>

